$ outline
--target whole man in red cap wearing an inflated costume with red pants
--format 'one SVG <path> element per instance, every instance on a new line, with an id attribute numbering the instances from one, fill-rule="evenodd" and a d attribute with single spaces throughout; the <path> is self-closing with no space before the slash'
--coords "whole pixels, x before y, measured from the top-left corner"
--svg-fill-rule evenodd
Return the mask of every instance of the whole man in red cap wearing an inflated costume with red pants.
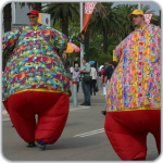
<path id="1" fill-rule="evenodd" d="M 38 24 L 36 10 L 27 15 L 30 25 L 12 29 L 2 38 L 4 52 L 11 52 L 2 74 L 2 101 L 27 147 L 37 141 L 45 149 L 59 139 L 68 115 L 70 82 L 60 57 L 67 38 Z"/>

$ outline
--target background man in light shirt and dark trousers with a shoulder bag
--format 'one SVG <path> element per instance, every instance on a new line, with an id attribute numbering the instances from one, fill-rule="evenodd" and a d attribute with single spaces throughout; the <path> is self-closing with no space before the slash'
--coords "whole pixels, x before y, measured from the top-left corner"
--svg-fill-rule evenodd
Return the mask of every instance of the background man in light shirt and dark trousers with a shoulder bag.
<path id="1" fill-rule="evenodd" d="M 82 87 L 84 92 L 84 102 L 80 105 L 91 105 L 90 103 L 90 83 L 86 83 L 84 80 L 85 76 L 90 76 L 90 64 L 88 63 L 88 60 L 86 58 L 83 58 L 82 60 L 83 68 L 79 71 L 80 77 L 82 77 Z"/>

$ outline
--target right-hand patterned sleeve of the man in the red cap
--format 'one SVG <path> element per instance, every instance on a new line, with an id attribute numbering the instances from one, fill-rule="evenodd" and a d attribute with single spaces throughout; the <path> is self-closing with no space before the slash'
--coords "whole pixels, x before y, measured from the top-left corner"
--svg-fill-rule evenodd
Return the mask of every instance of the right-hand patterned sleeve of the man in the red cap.
<path id="1" fill-rule="evenodd" d="M 67 37 L 64 34 L 53 29 L 53 43 L 59 55 L 61 55 L 62 52 L 66 49 Z"/>

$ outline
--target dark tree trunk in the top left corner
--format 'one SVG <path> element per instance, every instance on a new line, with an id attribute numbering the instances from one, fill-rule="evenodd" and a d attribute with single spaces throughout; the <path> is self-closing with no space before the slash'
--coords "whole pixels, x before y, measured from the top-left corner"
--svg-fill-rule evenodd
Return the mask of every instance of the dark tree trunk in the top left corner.
<path id="1" fill-rule="evenodd" d="M 3 16 L 3 21 L 4 21 L 4 33 L 11 30 L 11 3 L 7 4 L 4 7 L 4 16 Z"/>

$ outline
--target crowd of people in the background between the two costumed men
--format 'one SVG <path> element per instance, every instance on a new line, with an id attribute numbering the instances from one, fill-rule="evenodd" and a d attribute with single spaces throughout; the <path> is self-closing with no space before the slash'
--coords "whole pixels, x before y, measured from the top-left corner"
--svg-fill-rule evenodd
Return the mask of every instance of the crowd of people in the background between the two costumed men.
<path id="1" fill-rule="evenodd" d="M 66 63 L 66 62 L 65 62 Z M 86 58 L 83 59 L 84 68 L 83 71 L 76 64 L 75 67 L 67 66 L 67 73 L 70 76 L 70 80 L 72 77 L 75 77 L 77 80 L 77 92 L 79 91 L 79 84 L 82 83 L 82 89 L 84 92 L 84 102 L 82 105 L 90 105 L 90 96 L 96 96 L 99 91 L 98 88 L 98 77 L 100 78 L 100 83 L 103 86 L 103 95 L 106 96 L 106 83 L 111 78 L 113 71 L 115 70 L 117 62 L 116 61 L 109 61 L 108 64 L 102 65 L 101 67 L 97 68 L 95 64 L 89 63 Z M 85 67 L 87 65 L 87 67 Z M 85 71 L 87 68 L 87 71 Z M 85 71 L 85 72 L 84 72 Z M 84 74 L 85 76 L 90 76 L 90 83 L 84 82 Z M 86 87 L 86 88 L 85 88 Z M 87 90 L 87 91 L 86 91 Z M 88 92 L 90 90 L 90 92 Z M 102 111 L 102 114 L 105 115 L 105 111 Z"/>

